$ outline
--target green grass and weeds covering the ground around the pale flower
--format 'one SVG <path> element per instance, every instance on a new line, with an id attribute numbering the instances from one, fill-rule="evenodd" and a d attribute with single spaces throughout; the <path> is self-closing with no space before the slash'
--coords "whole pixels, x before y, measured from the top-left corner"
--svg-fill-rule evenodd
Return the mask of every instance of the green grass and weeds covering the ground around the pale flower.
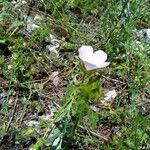
<path id="1" fill-rule="evenodd" d="M 149 44 L 137 51 L 133 30 L 150 27 L 149 6 L 149 0 L 1 0 L 0 148 L 146 149 Z M 24 14 L 42 16 L 40 28 L 28 33 Z M 45 48 L 49 33 L 60 41 L 59 57 Z M 109 67 L 87 72 L 78 58 L 83 44 L 104 50 Z M 112 104 L 103 101 L 105 89 L 117 90 Z M 61 107 L 50 121 L 40 119 L 53 102 Z M 39 132 L 27 125 L 31 120 Z"/>

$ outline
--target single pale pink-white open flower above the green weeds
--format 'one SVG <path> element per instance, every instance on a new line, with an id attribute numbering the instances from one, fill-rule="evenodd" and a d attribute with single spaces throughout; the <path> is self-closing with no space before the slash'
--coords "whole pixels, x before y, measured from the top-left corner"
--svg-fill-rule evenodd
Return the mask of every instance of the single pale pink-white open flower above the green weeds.
<path id="1" fill-rule="evenodd" d="M 98 50 L 94 52 L 93 48 L 88 45 L 83 45 L 79 48 L 79 57 L 87 70 L 104 68 L 110 64 L 110 62 L 105 62 L 107 54 L 104 51 Z"/>

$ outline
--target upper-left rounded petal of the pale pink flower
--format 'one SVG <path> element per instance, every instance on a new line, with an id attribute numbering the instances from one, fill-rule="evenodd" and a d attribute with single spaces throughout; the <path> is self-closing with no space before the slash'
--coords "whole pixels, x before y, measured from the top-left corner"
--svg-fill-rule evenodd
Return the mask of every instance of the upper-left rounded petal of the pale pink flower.
<path id="1" fill-rule="evenodd" d="M 79 48 L 79 57 L 81 60 L 86 61 L 88 59 L 91 59 L 92 55 L 93 55 L 92 46 L 83 45 Z"/>

